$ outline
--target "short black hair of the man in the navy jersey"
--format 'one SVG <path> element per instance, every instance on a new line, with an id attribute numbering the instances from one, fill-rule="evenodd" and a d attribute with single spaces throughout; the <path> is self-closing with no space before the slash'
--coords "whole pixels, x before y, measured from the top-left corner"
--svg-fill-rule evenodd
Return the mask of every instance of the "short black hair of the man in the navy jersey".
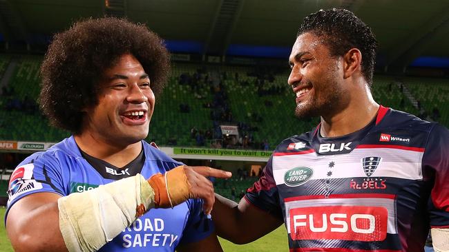
<path id="1" fill-rule="evenodd" d="M 343 56 L 351 48 L 359 49 L 361 72 L 368 85 L 372 85 L 377 41 L 370 27 L 354 13 L 341 8 L 319 10 L 304 18 L 298 36 L 306 32 L 322 37 L 332 56 Z"/>

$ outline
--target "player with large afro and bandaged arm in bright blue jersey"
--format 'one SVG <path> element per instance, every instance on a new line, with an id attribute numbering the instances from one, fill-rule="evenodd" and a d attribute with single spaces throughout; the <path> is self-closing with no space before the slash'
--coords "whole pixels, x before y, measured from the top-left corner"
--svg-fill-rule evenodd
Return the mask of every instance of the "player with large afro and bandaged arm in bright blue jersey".
<path id="1" fill-rule="evenodd" d="M 16 251 L 222 251 L 204 176 L 231 174 L 184 166 L 143 140 L 168 70 L 160 37 L 125 19 L 79 21 L 55 36 L 40 103 L 73 136 L 10 178 Z"/>

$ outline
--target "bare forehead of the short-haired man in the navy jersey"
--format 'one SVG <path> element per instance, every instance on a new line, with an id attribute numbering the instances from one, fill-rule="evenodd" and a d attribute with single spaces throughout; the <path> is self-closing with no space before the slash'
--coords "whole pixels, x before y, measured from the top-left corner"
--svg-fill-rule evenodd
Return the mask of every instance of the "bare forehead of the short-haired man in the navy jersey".
<path id="1" fill-rule="evenodd" d="M 329 52 L 329 50 L 324 43 L 323 37 L 316 36 L 310 32 L 305 32 L 296 38 L 289 60 L 293 61 L 295 56 L 301 54 L 326 54 L 327 52 Z"/>

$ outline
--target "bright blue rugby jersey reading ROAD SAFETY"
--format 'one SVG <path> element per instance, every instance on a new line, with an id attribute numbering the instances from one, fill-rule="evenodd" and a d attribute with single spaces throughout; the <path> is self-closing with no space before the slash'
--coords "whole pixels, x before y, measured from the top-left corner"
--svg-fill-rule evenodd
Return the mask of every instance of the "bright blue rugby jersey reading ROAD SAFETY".
<path id="1" fill-rule="evenodd" d="M 73 136 L 47 151 L 32 154 L 12 173 L 6 216 L 17 200 L 31 193 L 52 192 L 68 196 L 137 172 L 149 178 L 182 165 L 143 140 L 142 146 L 140 157 L 144 158 L 144 166 L 137 170 L 135 167 L 104 167 L 104 171 L 97 171 L 83 158 Z M 202 200 L 190 199 L 173 209 L 150 209 L 99 251 L 175 251 L 179 244 L 197 242 L 207 238 L 212 231 L 213 222 L 202 213 Z"/>

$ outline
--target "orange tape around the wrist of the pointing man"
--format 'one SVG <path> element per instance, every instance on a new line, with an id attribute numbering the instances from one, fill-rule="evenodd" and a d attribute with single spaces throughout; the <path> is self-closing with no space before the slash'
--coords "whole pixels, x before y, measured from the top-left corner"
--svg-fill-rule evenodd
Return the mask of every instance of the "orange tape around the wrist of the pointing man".
<path id="1" fill-rule="evenodd" d="M 173 207 L 193 197 L 184 165 L 175 167 L 164 175 L 155 174 L 148 182 L 155 193 L 155 207 Z"/>

